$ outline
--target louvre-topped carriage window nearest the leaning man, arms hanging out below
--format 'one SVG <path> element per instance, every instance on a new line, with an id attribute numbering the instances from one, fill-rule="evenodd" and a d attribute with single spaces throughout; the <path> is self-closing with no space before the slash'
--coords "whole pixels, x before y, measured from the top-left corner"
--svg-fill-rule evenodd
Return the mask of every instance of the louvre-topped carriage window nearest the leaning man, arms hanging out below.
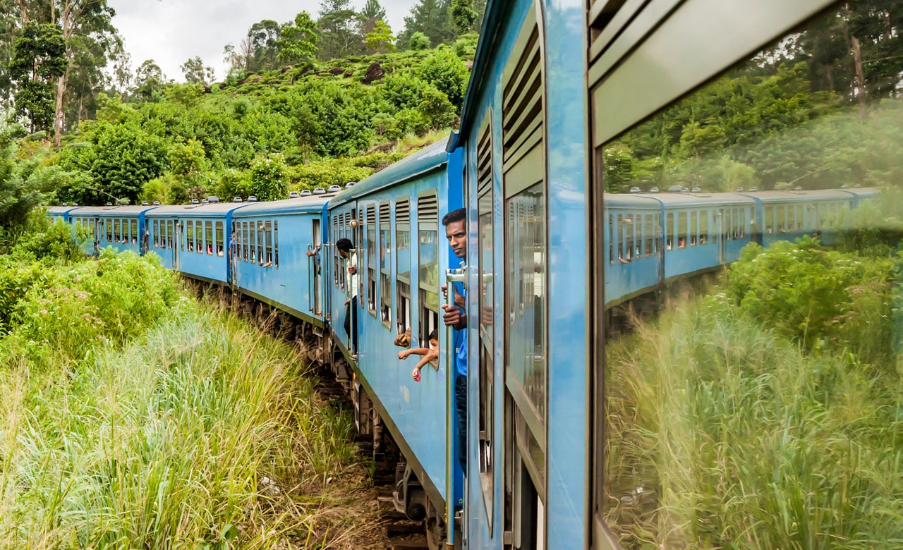
<path id="1" fill-rule="evenodd" d="M 417 199 L 417 271 L 420 304 L 420 345 L 428 348 L 429 335 L 439 330 L 439 207 L 435 191 Z"/>

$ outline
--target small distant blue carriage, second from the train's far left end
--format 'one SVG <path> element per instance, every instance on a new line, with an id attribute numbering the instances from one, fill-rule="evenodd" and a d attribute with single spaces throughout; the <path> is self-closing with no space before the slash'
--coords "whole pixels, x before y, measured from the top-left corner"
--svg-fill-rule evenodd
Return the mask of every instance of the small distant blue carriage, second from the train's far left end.
<path id="1" fill-rule="evenodd" d="M 86 253 L 113 247 L 116 252 L 131 250 L 140 256 L 147 249 L 146 215 L 156 208 L 148 204 L 90 206 L 70 211 L 69 220 L 72 224 L 88 228 Z"/>

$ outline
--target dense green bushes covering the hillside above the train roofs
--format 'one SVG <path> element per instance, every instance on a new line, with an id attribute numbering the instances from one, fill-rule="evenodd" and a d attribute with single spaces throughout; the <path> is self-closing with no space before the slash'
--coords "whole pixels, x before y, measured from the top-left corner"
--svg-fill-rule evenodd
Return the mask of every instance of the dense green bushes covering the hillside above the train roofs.
<path id="1" fill-rule="evenodd" d="M 290 189 L 359 181 L 452 125 L 473 54 L 470 38 L 460 42 L 347 58 L 334 70 L 304 64 L 209 91 L 166 85 L 140 102 L 101 97 L 98 120 L 79 126 L 48 161 L 78 174 L 56 200 L 279 199 Z"/>

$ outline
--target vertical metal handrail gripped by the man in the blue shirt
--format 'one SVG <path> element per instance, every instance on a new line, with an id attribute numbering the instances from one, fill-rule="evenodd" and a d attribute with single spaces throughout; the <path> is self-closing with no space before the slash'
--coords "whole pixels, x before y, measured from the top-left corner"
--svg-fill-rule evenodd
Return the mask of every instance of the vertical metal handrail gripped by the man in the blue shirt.
<path id="1" fill-rule="evenodd" d="M 454 284 L 467 281 L 467 266 L 461 262 L 460 269 L 449 269 L 445 272 L 445 284 L 448 292 L 446 305 L 454 303 Z M 454 547 L 454 411 L 455 411 L 455 350 L 454 329 L 445 326 L 445 545 Z"/>

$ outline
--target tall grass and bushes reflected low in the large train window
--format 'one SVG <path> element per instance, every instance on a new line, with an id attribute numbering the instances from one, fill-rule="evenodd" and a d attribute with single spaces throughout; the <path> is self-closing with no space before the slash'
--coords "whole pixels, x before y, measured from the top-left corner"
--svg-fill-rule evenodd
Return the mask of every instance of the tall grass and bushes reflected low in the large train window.
<path id="1" fill-rule="evenodd" d="M 903 388 L 724 294 L 610 344 L 606 513 L 628 548 L 903 547 Z"/>

